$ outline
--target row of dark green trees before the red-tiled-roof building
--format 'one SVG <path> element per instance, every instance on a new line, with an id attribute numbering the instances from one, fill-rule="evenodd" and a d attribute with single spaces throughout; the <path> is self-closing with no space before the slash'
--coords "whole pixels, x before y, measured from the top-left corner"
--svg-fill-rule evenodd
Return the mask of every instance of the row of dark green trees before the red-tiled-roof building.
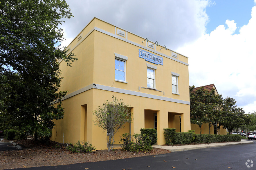
<path id="1" fill-rule="evenodd" d="M 203 123 L 208 123 L 209 134 L 213 123 L 217 123 L 219 132 L 221 126 L 231 132 L 250 122 L 244 110 L 235 105 L 235 99 L 226 97 L 223 100 L 221 95 L 215 95 L 213 88 L 211 91 L 204 90 L 203 87 L 199 87 L 196 91 L 193 90 L 194 86 L 190 86 L 191 123 L 198 125 L 199 128 Z"/>

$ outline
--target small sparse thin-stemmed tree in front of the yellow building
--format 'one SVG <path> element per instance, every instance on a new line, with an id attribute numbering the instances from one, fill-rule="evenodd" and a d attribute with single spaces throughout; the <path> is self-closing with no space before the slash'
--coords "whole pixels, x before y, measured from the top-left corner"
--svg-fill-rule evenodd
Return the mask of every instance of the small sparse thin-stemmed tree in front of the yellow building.
<path id="1" fill-rule="evenodd" d="M 108 133 L 108 151 L 112 151 L 114 145 L 114 135 L 120 128 L 124 128 L 125 123 L 131 123 L 130 106 L 126 105 L 122 99 L 118 100 L 115 96 L 113 101 L 106 101 L 98 110 L 93 112 L 95 125 L 99 126 Z"/>

